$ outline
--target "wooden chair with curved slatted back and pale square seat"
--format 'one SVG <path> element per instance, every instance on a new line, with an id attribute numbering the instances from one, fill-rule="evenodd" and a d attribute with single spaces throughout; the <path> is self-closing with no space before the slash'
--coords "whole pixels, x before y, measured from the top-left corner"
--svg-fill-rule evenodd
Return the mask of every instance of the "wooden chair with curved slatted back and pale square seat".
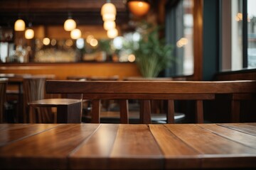
<path id="1" fill-rule="evenodd" d="M 29 113 L 29 123 L 81 123 L 82 94 L 45 98 L 45 82 L 49 78 L 53 77 L 34 76 L 23 79 L 26 103 L 24 113 Z M 57 108 L 56 114 L 52 108 Z"/>

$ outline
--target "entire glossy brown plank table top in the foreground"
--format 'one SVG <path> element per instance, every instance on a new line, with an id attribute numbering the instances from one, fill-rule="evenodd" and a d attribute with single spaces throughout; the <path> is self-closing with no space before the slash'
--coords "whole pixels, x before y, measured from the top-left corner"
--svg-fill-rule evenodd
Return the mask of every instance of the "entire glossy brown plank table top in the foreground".
<path id="1" fill-rule="evenodd" d="M 0 124 L 0 169 L 256 168 L 256 123 Z"/>

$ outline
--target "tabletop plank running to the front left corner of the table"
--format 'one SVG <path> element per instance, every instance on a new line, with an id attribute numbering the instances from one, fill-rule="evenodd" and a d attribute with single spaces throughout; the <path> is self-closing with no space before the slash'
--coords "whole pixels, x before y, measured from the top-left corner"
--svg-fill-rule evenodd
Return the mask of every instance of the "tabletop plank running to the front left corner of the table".
<path id="1" fill-rule="evenodd" d="M 0 147 L 4 169 L 66 169 L 67 157 L 99 125 L 60 125 Z"/>

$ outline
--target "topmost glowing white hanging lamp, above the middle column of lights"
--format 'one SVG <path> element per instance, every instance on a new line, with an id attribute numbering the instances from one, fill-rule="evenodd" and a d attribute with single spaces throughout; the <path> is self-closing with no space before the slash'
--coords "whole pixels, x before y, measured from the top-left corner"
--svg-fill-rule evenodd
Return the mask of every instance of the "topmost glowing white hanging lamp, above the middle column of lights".
<path id="1" fill-rule="evenodd" d="M 117 8 L 114 4 L 107 2 L 102 6 L 100 13 L 103 21 L 114 21 L 117 15 Z"/>

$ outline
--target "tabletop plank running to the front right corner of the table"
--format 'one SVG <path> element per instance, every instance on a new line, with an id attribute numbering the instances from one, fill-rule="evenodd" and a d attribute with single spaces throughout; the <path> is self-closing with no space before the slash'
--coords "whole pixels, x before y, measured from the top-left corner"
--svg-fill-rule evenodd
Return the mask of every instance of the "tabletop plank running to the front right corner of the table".
<path id="1" fill-rule="evenodd" d="M 176 125 L 174 127 L 169 124 L 166 127 L 183 142 L 186 142 L 187 145 L 201 153 L 201 166 L 203 168 L 255 166 L 255 162 L 252 162 L 252 159 L 256 158 L 256 149 L 220 137 L 213 132 L 204 130 L 199 125 Z M 241 159 L 245 155 L 250 159 Z"/>

